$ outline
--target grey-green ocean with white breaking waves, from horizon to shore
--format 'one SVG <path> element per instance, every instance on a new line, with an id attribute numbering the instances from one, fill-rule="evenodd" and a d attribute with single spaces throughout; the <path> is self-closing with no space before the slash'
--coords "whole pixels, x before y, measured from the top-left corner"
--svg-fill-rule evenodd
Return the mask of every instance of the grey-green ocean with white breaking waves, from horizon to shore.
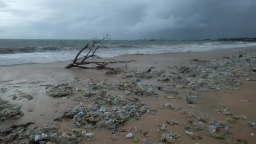
<path id="1" fill-rule="evenodd" d="M 90 42 L 91 40 L 0 40 L 0 66 L 71 61 Z M 108 49 L 100 48 L 96 51 L 96 55 L 101 57 L 256 46 L 256 43 L 251 42 L 190 40 L 106 40 L 102 43 Z"/>

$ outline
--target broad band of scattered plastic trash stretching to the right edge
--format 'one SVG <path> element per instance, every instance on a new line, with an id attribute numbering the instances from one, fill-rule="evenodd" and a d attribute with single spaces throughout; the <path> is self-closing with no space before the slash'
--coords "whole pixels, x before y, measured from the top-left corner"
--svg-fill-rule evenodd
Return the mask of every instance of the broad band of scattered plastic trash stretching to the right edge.
<path id="1" fill-rule="evenodd" d="M 224 85 L 238 87 L 240 83 L 235 80 L 235 77 L 248 76 L 256 69 L 256 57 L 253 53 L 220 59 L 192 59 L 191 63 L 189 66 L 171 67 L 172 72 L 151 69 L 133 70 L 133 75 L 129 77 L 158 78 L 159 81 L 182 84 L 183 88 L 189 90 L 219 91 Z M 123 78 L 128 78 L 128 76 Z"/>

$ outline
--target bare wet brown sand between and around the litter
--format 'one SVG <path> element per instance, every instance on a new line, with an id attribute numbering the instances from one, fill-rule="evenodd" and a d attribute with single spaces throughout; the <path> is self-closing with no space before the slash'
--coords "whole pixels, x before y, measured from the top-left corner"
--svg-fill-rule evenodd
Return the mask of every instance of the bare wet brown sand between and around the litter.
<path id="1" fill-rule="evenodd" d="M 149 55 L 132 55 L 132 56 L 118 56 L 113 59 L 116 60 L 136 60 L 135 62 L 125 64 L 113 64 L 112 67 L 120 67 L 125 71 L 132 69 L 146 70 L 150 67 L 155 67 L 154 70 L 168 69 L 172 66 L 179 64 L 190 64 L 190 59 L 211 59 L 223 56 L 239 55 L 241 51 L 248 51 L 255 48 L 240 48 L 240 49 L 226 49 L 226 50 L 214 50 L 206 52 L 187 52 L 187 53 L 164 53 L 164 54 L 149 54 Z M 51 123 L 60 125 L 60 131 L 68 131 L 69 129 L 78 128 L 75 124 L 70 122 L 53 122 L 53 119 L 60 117 L 69 106 L 72 106 L 77 101 L 64 98 L 53 98 L 45 94 L 45 86 L 41 85 L 57 85 L 65 83 L 67 81 L 74 81 L 75 78 L 80 80 L 93 79 L 93 80 L 107 80 L 108 82 L 116 85 L 122 80 L 121 75 L 104 75 L 105 70 L 96 69 L 64 69 L 64 67 L 70 62 L 56 62 L 50 64 L 23 64 L 15 66 L 0 67 L 0 88 L 7 88 L 7 91 L 0 93 L 1 98 L 10 101 L 12 104 L 22 105 L 21 111 L 24 112 L 24 116 L 18 120 L 6 121 L 0 124 L 0 128 L 9 127 L 12 124 L 27 123 L 29 121 L 35 122 L 36 125 L 43 126 Z M 254 72 L 254 77 L 256 78 Z M 246 81 L 248 77 L 238 77 L 237 79 L 242 82 L 240 90 L 233 90 L 229 88 L 221 88 L 218 92 L 205 92 L 200 93 L 201 99 L 199 104 L 195 104 L 193 109 L 197 114 L 207 114 L 211 120 L 225 121 L 227 116 L 216 112 L 216 107 L 219 103 L 228 107 L 231 112 L 239 115 L 245 115 L 247 120 L 237 120 L 236 123 L 232 123 L 232 138 L 234 140 L 241 139 L 248 141 L 249 144 L 256 143 L 256 137 L 250 138 L 250 133 L 256 131 L 247 125 L 248 121 L 255 121 L 256 115 L 254 110 L 256 109 L 256 82 Z M 163 85 L 156 79 L 142 79 L 144 82 Z M 179 89 L 179 95 L 185 95 L 185 89 Z M 27 93 L 33 96 L 32 100 L 21 98 L 16 100 L 11 99 L 10 95 L 17 93 Z M 114 91 L 113 93 L 120 93 L 125 95 L 122 91 Z M 195 131 L 194 134 L 203 137 L 202 140 L 193 140 L 191 136 L 185 134 L 185 124 L 183 122 L 189 121 L 185 115 L 182 115 L 178 109 L 161 109 L 159 104 L 165 104 L 170 102 L 175 104 L 176 107 L 187 107 L 187 102 L 180 99 L 166 99 L 165 96 L 159 96 L 154 100 L 147 99 L 142 96 L 135 96 L 136 98 L 144 101 L 147 107 L 157 109 L 155 115 L 147 114 L 141 116 L 140 120 L 130 120 L 125 123 L 121 128 L 132 128 L 134 125 L 140 128 L 142 131 L 148 131 L 148 137 L 144 137 L 141 133 L 134 133 L 140 140 L 147 139 L 152 143 L 160 142 L 159 139 L 164 132 L 157 132 L 157 124 L 165 124 L 172 131 L 181 135 L 181 141 L 175 141 L 176 144 L 222 144 L 227 141 L 218 140 L 208 135 L 207 130 Z M 249 100 L 248 102 L 241 100 Z M 32 109 L 32 112 L 29 112 Z M 178 120 L 181 122 L 178 126 L 172 126 L 165 123 L 166 120 Z M 95 135 L 95 141 L 82 141 L 81 144 L 129 144 L 133 143 L 133 139 L 126 139 L 126 132 L 121 132 L 116 141 L 109 139 L 111 130 L 102 129 L 99 131 L 90 130 Z M 141 141 L 139 142 L 141 143 Z M 228 143 L 232 143 L 229 141 Z"/>

